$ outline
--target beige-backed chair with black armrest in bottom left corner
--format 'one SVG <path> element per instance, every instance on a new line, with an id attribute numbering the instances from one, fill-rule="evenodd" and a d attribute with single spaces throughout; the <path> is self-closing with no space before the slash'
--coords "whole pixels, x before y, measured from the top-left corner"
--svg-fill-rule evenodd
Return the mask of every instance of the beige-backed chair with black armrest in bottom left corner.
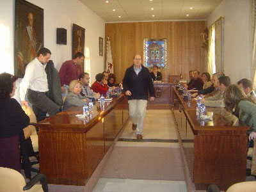
<path id="1" fill-rule="evenodd" d="M 38 174 L 33 177 L 28 183 L 25 182 L 24 177 L 17 171 L 10 168 L 0 167 L 0 191 L 4 192 L 48 192 L 47 180 L 45 175 Z M 40 184 L 36 182 L 41 181 Z"/>

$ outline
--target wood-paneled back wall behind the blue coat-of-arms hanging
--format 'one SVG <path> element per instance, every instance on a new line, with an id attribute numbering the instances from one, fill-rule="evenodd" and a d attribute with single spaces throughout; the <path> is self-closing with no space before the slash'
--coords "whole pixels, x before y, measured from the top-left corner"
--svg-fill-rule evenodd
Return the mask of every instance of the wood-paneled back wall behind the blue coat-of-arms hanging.
<path id="1" fill-rule="evenodd" d="M 144 38 L 167 39 L 168 64 L 160 69 L 163 80 L 168 81 L 170 75 L 180 73 L 188 79 L 188 72 L 193 69 L 205 72 L 207 50 L 202 48 L 200 34 L 206 25 L 204 20 L 105 24 L 105 40 L 109 36 L 116 82 L 122 81 L 125 69 L 132 65 L 135 54 L 143 56 Z"/>

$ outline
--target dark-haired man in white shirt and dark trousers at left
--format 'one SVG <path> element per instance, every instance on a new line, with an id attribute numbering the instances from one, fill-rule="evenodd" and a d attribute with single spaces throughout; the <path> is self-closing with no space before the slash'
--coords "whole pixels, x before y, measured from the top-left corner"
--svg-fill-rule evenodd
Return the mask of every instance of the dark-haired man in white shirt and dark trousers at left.
<path id="1" fill-rule="evenodd" d="M 51 51 L 42 48 L 36 54 L 36 58 L 28 63 L 25 76 L 20 83 L 20 100 L 22 106 L 28 106 L 25 95 L 28 90 L 28 100 L 32 104 L 33 111 L 38 121 L 44 119 L 42 117 L 55 115 L 60 112 L 60 106 L 52 102 L 48 96 L 48 82 L 45 67 L 51 58 Z"/>

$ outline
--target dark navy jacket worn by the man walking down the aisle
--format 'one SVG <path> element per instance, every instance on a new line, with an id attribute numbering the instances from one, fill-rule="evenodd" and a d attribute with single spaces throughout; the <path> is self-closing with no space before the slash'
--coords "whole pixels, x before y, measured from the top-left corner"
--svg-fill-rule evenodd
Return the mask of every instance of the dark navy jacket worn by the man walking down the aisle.
<path id="1" fill-rule="evenodd" d="M 123 87 L 124 92 L 129 90 L 132 95 L 128 96 L 131 99 L 145 99 L 148 100 L 148 92 L 150 97 L 156 97 L 152 79 L 146 67 L 141 65 L 140 73 L 136 74 L 134 65 L 127 68 L 124 75 Z"/>

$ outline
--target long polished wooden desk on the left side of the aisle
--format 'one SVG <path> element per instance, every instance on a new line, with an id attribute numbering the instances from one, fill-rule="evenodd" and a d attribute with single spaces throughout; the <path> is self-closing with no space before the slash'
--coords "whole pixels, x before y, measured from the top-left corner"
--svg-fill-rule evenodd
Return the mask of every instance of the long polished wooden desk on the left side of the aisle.
<path id="1" fill-rule="evenodd" d="M 99 102 L 86 120 L 78 120 L 82 107 L 72 107 L 36 124 L 40 173 L 53 184 L 84 185 L 128 119 L 127 97 Z"/>

